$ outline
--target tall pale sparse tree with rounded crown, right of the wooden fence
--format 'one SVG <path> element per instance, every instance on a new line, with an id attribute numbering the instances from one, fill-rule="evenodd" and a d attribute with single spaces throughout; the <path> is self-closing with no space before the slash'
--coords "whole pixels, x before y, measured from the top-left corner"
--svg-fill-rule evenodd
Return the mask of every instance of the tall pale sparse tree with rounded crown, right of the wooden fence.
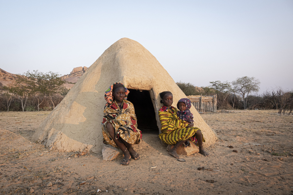
<path id="1" fill-rule="evenodd" d="M 234 86 L 234 90 L 236 93 L 242 95 L 243 99 L 243 107 L 244 109 L 247 108 L 247 96 L 252 92 L 258 92 L 259 91 L 259 85 L 260 81 L 256 79 L 255 77 L 240 77 L 237 78 L 235 81 L 232 82 Z"/>

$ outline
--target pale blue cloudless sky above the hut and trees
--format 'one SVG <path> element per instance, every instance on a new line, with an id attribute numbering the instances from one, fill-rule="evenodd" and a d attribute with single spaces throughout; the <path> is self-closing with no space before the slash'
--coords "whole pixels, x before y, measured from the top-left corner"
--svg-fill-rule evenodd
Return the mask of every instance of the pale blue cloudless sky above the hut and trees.
<path id="1" fill-rule="evenodd" d="M 69 74 L 118 39 L 142 44 L 175 81 L 254 76 L 293 88 L 293 1 L 0 1 L 0 68 Z"/>

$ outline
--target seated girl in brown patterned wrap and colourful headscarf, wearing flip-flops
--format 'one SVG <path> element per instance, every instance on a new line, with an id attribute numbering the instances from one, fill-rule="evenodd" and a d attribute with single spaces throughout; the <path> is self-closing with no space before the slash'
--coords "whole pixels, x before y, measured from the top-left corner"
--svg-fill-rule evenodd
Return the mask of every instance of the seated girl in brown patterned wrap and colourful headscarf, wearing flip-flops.
<path id="1" fill-rule="evenodd" d="M 142 139 L 142 132 L 137 129 L 133 104 L 126 100 L 128 93 L 129 90 L 122 83 L 114 83 L 109 87 L 105 92 L 107 103 L 102 122 L 103 143 L 122 150 L 122 165 L 129 165 L 130 158 L 140 158 L 132 144 L 139 144 Z"/>

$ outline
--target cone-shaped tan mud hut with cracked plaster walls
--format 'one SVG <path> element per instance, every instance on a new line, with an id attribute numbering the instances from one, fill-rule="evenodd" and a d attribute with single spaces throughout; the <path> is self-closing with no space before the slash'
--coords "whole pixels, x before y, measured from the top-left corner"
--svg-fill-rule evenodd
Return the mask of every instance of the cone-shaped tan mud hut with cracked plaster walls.
<path id="1" fill-rule="evenodd" d="M 159 93 L 171 91 L 173 106 L 186 98 L 168 72 L 157 59 L 138 42 L 122 38 L 111 45 L 81 76 L 66 97 L 48 115 L 33 135 L 33 139 L 58 151 L 101 152 L 103 135 L 101 122 L 105 106 L 104 92 L 114 82 L 122 82 L 130 89 L 149 90 L 156 114 L 157 125 L 160 103 Z M 196 127 L 202 130 L 205 146 L 214 144 L 217 137 L 196 109 Z M 138 121 L 139 124 L 139 121 Z"/>

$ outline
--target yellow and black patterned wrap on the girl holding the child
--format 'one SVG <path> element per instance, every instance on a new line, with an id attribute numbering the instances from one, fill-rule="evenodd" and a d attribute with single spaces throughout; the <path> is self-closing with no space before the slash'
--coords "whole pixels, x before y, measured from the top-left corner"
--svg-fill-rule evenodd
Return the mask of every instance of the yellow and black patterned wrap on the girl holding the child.
<path id="1" fill-rule="evenodd" d="M 166 144 L 176 144 L 178 141 L 190 140 L 197 144 L 195 133 L 199 130 L 198 127 L 188 127 L 188 122 L 181 120 L 177 116 L 177 109 L 171 106 L 170 108 L 162 106 L 159 110 L 159 118 L 161 121 L 160 139 Z M 202 141 L 205 142 L 202 136 Z"/>

